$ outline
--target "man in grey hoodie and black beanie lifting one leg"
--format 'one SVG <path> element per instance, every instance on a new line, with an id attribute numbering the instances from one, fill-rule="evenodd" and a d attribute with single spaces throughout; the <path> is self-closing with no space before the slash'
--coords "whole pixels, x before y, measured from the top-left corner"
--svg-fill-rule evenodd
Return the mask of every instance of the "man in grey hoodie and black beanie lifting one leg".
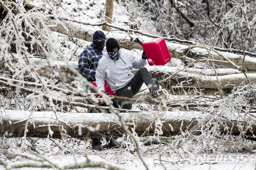
<path id="1" fill-rule="evenodd" d="M 146 65 L 146 53 L 144 51 L 142 57 L 137 59 L 127 51 L 121 50 L 114 38 L 108 39 L 106 50 L 103 51 L 96 69 L 96 84 L 100 91 L 105 91 L 104 79 L 106 79 L 116 96 L 132 98 L 139 92 L 143 83 L 151 91 L 151 97 L 156 98 L 158 96 L 159 83 L 151 77 L 144 67 Z M 132 74 L 133 68 L 138 69 L 135 75 Z M 118 103 L 122 109 L 132 108 L 132 104 L 122 104 L 122 101 L 118 101 Z"/>

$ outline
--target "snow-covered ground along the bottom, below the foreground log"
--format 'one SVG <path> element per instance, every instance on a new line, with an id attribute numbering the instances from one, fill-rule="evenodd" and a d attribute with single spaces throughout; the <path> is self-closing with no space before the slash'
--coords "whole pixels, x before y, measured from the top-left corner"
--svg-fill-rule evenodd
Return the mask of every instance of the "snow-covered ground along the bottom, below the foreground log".
<path id="1" fill-rule="evenodd" d="M 143 163 L 140 161 L 138 156 L 134 152 L 127 150 L 125 148 L 121 149 L 108 149 L 103 151 L 96 151 L 91 148 L 90 140 L 86 143 L 85 140 L 72 139 L 69 144 L 72 150 L 76 153 L 70 151 L 70 149 L 61 140 L 58 139 L 36 139 L 30 138 L 28 141 L 33 143 L 33 149 L 36 152 L 43 153 L 43 156 L 56 164 L 66 165 L 74 164 L 74 162 L 86 161 L 86 156 L 90 160 L 106 161 L 111 162 L 127 170 L 146 170 Z M 121 142 L 121 138 L 118 138 Z M 10 142 L 10 141 L 9 141 Z M 13 138 L 11 143 L 20 144 L 20 138 Z M 28 144 L 32 146 L 31 144 Z M 62 152 L 63 148 L 63 152 Z M 166 150 L 167 147 L 164 144 L 152 144 L 149 146 L 144 146 L 141 148 L 142 155 L 145 159 L 146 164 L 150 170 L 253 170 L 255 168 L 256 156 L 255 154 L 202 154 L 193 155 L 189 154 L 164 154 L 161 158 L 159 154 Z M 169 148 L 171 150 L 171 148 Z M 7 149 L 13 150 L 11 148 Z M 26 153 L 26 152 L 25 152 Z M 4 155 L 0 154 L 1 159 L 6 159 Z M 160 163 L 162 160 L 162 165 Z M 12 162 L 20 163 L 25 161 L 24 158 L 17 156 L 12 160 Z M 164 168 L 165 167 L 165 168 Z M 4 169 L 0 166 L 0 169 Z M 21 170 L 30 170 L 36 168 L 20 168 Z M 41 168 L 39 168 L 41 169 Z M 88 170 L 102 170 L 104 168 L 86 168 Z"/>

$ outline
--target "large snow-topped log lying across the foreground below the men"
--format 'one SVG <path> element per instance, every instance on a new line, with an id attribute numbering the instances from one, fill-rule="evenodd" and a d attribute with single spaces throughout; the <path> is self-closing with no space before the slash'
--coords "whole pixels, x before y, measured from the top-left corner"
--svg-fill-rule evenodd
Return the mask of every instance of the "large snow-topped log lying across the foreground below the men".
<path id="1" fill-rule="evenodd" d="M 156 131 L 162 136 L 172 136 L 193 127 L 196 130 L 198 122 L 202 121 L 207 113 L 177 111 L 164 113 L 120 113 L 120 115 L 129 129 L 133 128 L 134 125 L 136 126 L 135 132 L 139 136 L 142 134 L 145 136 L 154 135 Z M 158 119 L 162 121 L 162 126 Z M 236 119 L 238 118 L 234 117 L 231 121 L 227 121 L 223 118 L 223 124 L 221 121 L 219 123 L 220 131 L 224 132 L 223 125 L 226 125 L 229 129 L 232 129 L 232 134 L 239 135 L 239 128 L 244 125 L 244 129 L 246 129 L 247 124 L 243 120 L 239 122 Z M 105 135 L 122 136 L 124 134 L 124 130 L 120 127 L 114 113 L 55 114 L 54 112 L 34 112 L 30 114 L 29 111 L 2 110 L 1 122 L 0 135 L 5 134 L 6 137 L 24 136 L 26 123 L 28 123 L 27 137 L 46 138 L 49 135 L 52 138 L 61 138 L 60 129 L 62 129 L 64 136 L 73 138 L 100 137 Z M 158 130 L 156 130 L 156 125 Z M 250 125 L 252 132 L 255 133 L 256 126 L 253 123 L 250 123 Z M 245 130 L 244 133 L 247 135 L 252 134 L 249 130 Z"/>

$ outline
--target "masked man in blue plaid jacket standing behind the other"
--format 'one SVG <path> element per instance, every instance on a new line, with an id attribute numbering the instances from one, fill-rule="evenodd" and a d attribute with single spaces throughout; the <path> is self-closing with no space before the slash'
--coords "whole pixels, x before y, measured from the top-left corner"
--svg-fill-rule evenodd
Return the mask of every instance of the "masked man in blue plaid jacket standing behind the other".
<path id="1" fill-rule="evenodd" d="M 91 45 L 86 47 L 84 51 L 80 54 L 78 60 L 78 71 L 84 78 L 89 82 L 95 81 L 96 68 L 98 67 L 98 61 L 102 57 L 102 52 L 106 51 L 104 48 L 104 43 L 106 36 L 102 31 L 96 31 L 93 34 L 93 42 Z M 84 93 L 93 93 L 94 89 L 89 85 L 84 83 Z M 89 101 L 88 104 L 95 104 L 92 101 Z M 105 103 L 100 104 L 101 106 L 106 106 Z M 113 100 L 114 107 L 118 108 L 117 101 Z M 94 109 L 88 109 L 88 113 L 96 113 Z M 106 136 L 107 146 L 101 146 L 101 138 L 91 138 L 92 139 L 92 148 L 95 150 L 103 150 L 103 148 L 119 148 L 119 143 L 116 142 L 116 138 L 111 136 Z"/>

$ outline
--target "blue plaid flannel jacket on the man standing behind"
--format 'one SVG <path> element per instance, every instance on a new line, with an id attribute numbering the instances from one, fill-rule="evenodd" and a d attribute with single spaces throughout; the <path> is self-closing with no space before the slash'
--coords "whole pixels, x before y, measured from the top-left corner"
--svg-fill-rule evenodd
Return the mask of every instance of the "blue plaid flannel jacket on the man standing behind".
<path id="1" fill-rule="evenodd" d="M 104 50 L 106 49 L 102 51 Z M 102 51 L 95 49 L 91 44 L 79 56 L 78 71 L 90 82 L 95 81 L 96 68 L 99 59 L 102 57 Z"/>

